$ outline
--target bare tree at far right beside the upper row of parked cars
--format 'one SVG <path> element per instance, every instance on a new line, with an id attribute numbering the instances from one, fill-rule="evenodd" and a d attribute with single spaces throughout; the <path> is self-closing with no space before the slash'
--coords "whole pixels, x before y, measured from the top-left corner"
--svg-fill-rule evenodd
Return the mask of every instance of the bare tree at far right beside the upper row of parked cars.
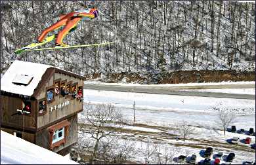
<path id="1" fill-rule="evenodd" d="M 234 122 L 234 120 L 236 119 L 236 114 L 234 113 L 234 111 L 229 109 L 216 108 L 216 107 L 214 107 L 213 109 L 218 111 L 217 118 L 219 120 L 216 120 L 215 122 L 217 123 L 218 126 L 221 126 L 221 128 L 224 131 L 223 135 L 225 135 L 226 128 L 230 126 L 232 122 Z"/>

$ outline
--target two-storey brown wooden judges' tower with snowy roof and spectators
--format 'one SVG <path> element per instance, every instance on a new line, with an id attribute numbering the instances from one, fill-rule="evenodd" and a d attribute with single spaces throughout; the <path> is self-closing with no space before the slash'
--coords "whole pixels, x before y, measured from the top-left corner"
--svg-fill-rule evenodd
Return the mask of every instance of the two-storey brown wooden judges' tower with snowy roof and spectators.
<path id="1" fill-rule="evenodd" d="M 51 65 L 14 61 L 1 78 L 1 130 L 67 155 L 77 143 L 83 79 Z"/>

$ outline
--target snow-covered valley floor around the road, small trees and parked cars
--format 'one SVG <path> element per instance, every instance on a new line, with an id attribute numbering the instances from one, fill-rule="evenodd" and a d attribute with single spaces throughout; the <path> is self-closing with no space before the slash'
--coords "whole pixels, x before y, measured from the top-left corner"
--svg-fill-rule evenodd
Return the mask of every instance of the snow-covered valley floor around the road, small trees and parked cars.
<path id="1" fill-rule="evenodd" d="M 85 82 L 87 83 L 87 82 Z M 91 83 L 91 82 L 89 82 Z M 100 83 L 101 82 L 93 82 Z M 184 86 L 184 85 L 213 85 L 213 84 L 255 84 L 255 82 L 221 82 L 221 83 L 200 83 L 200 84 L 161 84 L 161 85 L 149 85 L 149 86 Z M 111 84 L 106 84 L 111 85 Z M 117 84 L 116 84 L 117 85 Z M 127 84 L 120 84 L 127 85 Z M 128 84 L 132 85 L 132 84 Z M 140 85 L 140 84 L 136 84 Z M 146 85 L 143 85 L 146 86 Z M 248 94 L 255 92 L 255 88 L 243 90 L 243 89 L 228 89 L 230 93 L 239 93 Z M 221 89 L 218 89 L 218 92 L 222 92 Z M 226 91 L 224 91 L 226 92 Z M 85 103 L 112 103 L 117 109 L 123 113 L 124 117 L 127 118 L 131 123 L 133 123 L 133 104 L 136 104 L 135 111 L 135 120 L 137 124 L 146 124 L 148 126 L 159 126 L 161 128 L 166 128 L 161 130 L 161 128 L 148 128 L 143 126 L 125 126 L 126 130 L 140 130 L 144 132 L 149 132 L 147 141 L 141 139 L 143 135 L 135 136 L 127 134 L 127 137 L 139 138 L 136 142 L 136 148 L 141 151 L 136 156 L 134 160 L 137 162 L 144 162 L 143 152 L 145 151 L 146 144 L 152 143 L 152 139 L 161 139 L 160 146 L 161 149 L 164 147 L 173 147 L 170 144 L 176 145 L 186 145 L 179 146 L 179 155 L 189 153 L 198 155 L 197 161 L 203 160 L 204 158 L 200 156 L 200 151 L 205 149 L 205 147 L 213 147 L 213 155 L 218 151 L 223 151 L 224 155 L 228 155 L 230 152 L 236 154 L 236 158 L 232 164 L 242 164 L 242 162 L 251 160 L 255 161 L 255 152 L 249 151 L 250 145 L 246 145 L 242 142 L 239 143 L 238 148 L 235 148 L 233 145 L 230 145 L 226 142 L 227 139 L 230 139 L 234 136 L 244 139 L 245 137 L 251 137 L 252 143 L 255 143 L 255 136 L 247 136 L 245 134 L 237 134 L 226 132 L 223 136 L 222 131 L 215 132 L 213 128 L 217 126 L 217 111 L 213 108 L 223 108 L 228 110 L 233 110 L 236 113 L 236 120 L 232 125 L 236 126 L 236 129 L 244 128 L 249 130 L 253 128 L 255 130 L 255 100 L 244 100 L 244 99 L 230 99 L 230 98 L 207 98 L 207 97 L 198 97 L 198 96 L 174 96 L 174 95 L 165 95 L 165 94 L 144 94 L 144 93 L 134 93 L 134 92 L 114 92 L 114 91 L 104 91 L 104 90 L 84 90 L 84 101 Z M 83 112 L 79 114 L 79 122 L 85 122 Z M 177 139 L 170 139 L 168 136 L 156 135 L 161 133 L 168 134 L 177 134 L 177 130 L 172 129 L 177 122 L 181 120 L 186 120 L 189 124 L 194 126 L 195 134 L 190 136 L 196 140 L 188 139 L 183 142 Z M 85 134 L 85 133 L 81 133 Z M 123 135 L 123 134 L 122 134 Z M 81 135 L 84 136 L 84 135 Z M 128 138 L 129 139 L 129 138 Z M 202 144 L 202 141 L 204 142 Z M 213 141 L 213 143 L 209 143 Z M 206 143 L 206 144 L 205 144 Z M 207 143 L 209 143 L 207 145 Z M 192 145 L 203 146 L 201 148 L 192 147 Z M 219 146 L 217 146 L 219 145 Z M 223 145 L 223 146 L 221 146 Z M 239 147 L 242 147 L 241 149 Z M 243 148 L 245 147 L 245 148 Z M 248 148 L 248 151 L 247 151 Z M 179 156 L 177 155 L 177 156 Z M 213 157 L 211 157 L 213 160 Z M 224 161 L 222 161 L 224 162 Z"/>

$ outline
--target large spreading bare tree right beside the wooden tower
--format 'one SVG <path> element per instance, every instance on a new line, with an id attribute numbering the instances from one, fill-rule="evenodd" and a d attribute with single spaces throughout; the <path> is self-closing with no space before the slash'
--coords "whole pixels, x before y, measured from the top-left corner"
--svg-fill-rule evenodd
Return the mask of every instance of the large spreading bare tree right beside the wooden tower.
<path id="1" fill-rule="evenodd" d="M 120 123 L 123 116 L 111 104 L 92 105 L 88 103 L 85 105 L 85 119 L 91 124 L 89 134 L 95 139 L 94 151 L 90 158 L 90 164 L 92 164 L 96 158 L 100 140 L 103 137 L 115 136 L 121 131 Z M 115 124 L 116 129 L 106 129 L 106 125 L 110 123 Z"/>

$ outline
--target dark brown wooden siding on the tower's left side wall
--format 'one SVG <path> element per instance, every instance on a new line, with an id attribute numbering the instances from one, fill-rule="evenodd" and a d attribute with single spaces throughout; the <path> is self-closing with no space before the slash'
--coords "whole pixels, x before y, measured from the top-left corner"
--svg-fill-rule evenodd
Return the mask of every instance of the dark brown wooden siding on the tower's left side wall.
<path id="1" fill-rule="evenodd" d="M 2 125 L 11 125 L 22 127 L 24 130 L 27 128 L 36 128 L 36 112 L 35 112 L 35 100 L 31 101 L 32 113 L 30 115 L 14 115 L 17 113 L 17 109 L 22 109 L 22 99 L 14 98 L 11 96 L 1 96 L 1 122 Z"/>

